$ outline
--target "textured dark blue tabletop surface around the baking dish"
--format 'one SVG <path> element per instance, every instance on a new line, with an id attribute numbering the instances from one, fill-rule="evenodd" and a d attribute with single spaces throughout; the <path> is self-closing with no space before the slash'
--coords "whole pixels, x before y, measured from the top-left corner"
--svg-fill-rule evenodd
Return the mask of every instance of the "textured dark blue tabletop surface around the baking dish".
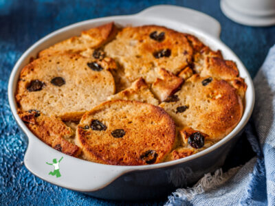
<path id="1" fill-rule="evenodd" d="M 247 27 L 227 19 L 217 0 L 195 1 L 54 1 L 0 0 L 0 205 L 122 205 L 63 189 L 33 176 L 23 165 L 27 143 L 14 122 L 8 105 L 10 71 L 25 49 L 37 40 L 66 25 L 101 16 L 133 14 L 156 4 L 175 4 L 210 14 L 221 23 L 221 40 L 241 58 L 255 76 L 268 49 L 275 43 L 275 27 Z M 164 14 L 165 15 L 165 14 Z M 234 157 L 223 170 L 243 164 L 253 156 L 243 136 Z M 131 203 L 162 205 L 162 200 Z M 130 205 L 130 203 L 126 203 Z"/>

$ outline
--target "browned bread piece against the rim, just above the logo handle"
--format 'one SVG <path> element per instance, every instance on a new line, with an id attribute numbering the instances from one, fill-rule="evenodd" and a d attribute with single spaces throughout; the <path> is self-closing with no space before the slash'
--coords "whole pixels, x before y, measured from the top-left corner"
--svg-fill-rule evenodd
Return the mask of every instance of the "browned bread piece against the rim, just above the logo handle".
<path id="1" fill-rule="evenodd" d="M 66 155 L 73 157 L 80 155 L 80 148 L 73 143 L 74 132 L 60 118 L 47 117 L 36 110 L 19 111 L 18 113 L 32 133 L 45 144 Z"/>

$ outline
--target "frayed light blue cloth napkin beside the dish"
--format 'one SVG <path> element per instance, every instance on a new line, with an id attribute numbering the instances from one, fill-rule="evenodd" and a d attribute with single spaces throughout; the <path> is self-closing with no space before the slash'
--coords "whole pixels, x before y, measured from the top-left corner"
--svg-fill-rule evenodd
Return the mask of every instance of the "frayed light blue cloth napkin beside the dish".
<path id="1" fill-rule="evenodd" d="M 275 45 L 254 78 L 256 102 L 245 135 L 256 152 L 242 167 L 206 174 L 177 189 L 170 205 L 275 205 Z"/>

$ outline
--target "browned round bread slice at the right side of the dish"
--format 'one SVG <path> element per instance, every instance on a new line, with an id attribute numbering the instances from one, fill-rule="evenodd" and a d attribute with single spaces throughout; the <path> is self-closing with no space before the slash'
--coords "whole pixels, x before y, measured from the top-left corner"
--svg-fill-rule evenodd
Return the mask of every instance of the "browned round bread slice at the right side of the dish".
<path id="1" fill-rule="evenodd" d="M 236 89 L 225 80 L 202 78 L 186 80 L 168 102 L 159 104 L 178 126 L 205 133 L 219 140 L 228 135 L 243 115 L 243 104 Z"/>

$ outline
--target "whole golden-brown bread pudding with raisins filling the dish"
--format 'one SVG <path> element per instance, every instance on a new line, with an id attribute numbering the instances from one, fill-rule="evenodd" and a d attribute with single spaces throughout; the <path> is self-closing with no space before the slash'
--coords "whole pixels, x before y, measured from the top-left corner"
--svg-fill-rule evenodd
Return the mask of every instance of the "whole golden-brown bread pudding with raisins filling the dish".
<path id="1" fill-rule="evenodd" d="M 39 52 L 15 98 L 26 126 L 67 155 L 146 165 L 195 154 L 239 123 L 246 84 L 198 38 L 107 23 Z"/>

